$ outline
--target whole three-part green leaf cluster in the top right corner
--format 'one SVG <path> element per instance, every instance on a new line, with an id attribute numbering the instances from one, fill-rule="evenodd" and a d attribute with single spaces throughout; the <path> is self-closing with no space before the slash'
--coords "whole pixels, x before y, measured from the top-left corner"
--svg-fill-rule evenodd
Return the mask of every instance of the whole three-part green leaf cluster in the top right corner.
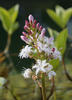
<path id="1" fill-rule="evenodd" d="M 56 6 L 55 11 L 48 9 L 47 13 L 61 28 L 64 28 L 72 16 L 72 8 L 65 10 L 61 6 Z"/>

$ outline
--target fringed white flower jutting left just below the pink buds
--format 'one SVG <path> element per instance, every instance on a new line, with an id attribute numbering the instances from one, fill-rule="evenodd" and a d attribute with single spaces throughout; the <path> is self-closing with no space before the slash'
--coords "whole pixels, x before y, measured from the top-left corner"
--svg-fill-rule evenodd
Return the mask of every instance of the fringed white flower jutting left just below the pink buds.
<path id="1" fill-rule="evenodd" d="M 25 48 L 23 48 L 19 53 L 19 57 L 22 59 L 28 58 L 29 54 L 32 52 L 31 48 L 32 48 L 31 46 L 26 45 Z"/>

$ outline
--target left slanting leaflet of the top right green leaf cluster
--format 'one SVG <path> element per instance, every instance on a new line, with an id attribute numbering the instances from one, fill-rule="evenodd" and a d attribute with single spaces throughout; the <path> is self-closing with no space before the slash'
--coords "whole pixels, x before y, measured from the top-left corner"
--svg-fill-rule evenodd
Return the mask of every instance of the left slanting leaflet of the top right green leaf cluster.
<path id="1" fill-rule="evenodd" d="M 47 13 L 61 28 L 64 27 L 62 19 L 53 10 L 48 9 Z"/>

